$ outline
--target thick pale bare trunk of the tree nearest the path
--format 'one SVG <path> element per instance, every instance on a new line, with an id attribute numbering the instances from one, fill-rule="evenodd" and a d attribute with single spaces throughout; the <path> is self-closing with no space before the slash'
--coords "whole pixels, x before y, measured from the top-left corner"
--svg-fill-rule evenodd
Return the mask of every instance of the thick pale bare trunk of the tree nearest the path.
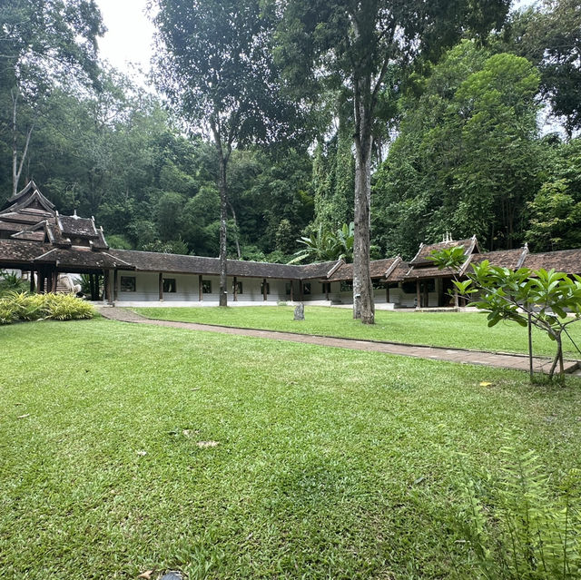
<path id="1" fill-rule="evenodd" d="M 353 318 L 375 322 L 373 286 L 369 272 L 371 202 L 370 78 L 357 80 L 355 96 L 355 231 L 353 239 Z"/>

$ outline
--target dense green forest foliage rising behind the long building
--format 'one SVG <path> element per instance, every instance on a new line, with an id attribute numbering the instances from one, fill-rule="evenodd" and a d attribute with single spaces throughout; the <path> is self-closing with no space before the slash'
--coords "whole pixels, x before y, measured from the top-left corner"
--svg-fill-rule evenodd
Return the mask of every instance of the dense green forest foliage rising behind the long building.
<path id="1" fill-rule="evenodd" d="M 308 5 L 295 7 L 300 12 Z M 212 6 L 220 10 L 223 3 Z M 261 30 L 276 25 L 277 14 L 259 15 L 269 19 Z M 456 18 L 448 23 L 450 34 Z M 554 0 L 512 15 L 488 36 L 466 32 L 447 53 L 427 45 L 415 67 L 389 61 L 372 131 L 381 147 L 372 150 L 370 241 L 380 256 L 410 258 L 420 241 L 439 241 L 445 231 L 456 239 L 476 233 L 487 250 L 524 241 L 533 251 L 581 245 L 578 18 L 575 2 Z M 247 24 L 242 19 L 229 27 Z M 60 211 L 94 215 L 114 247 L 218 255 L 215 145 L 158 97 L 97 65 L 95 39 L 103 25 L 94 4 L 19 0 L 0 6 L 0 25 L 0 198 L 13 191 L 15 160 L 18 189 L 32 178 Z M 309 26 L 302 25 L 306 34 Z M 340 42 L 338 31 L 321 25 L 317 43 Z M 300 36 L 300 30 L 288 34 Z M 281 46 L 291 50 L 283 40 L 273 57 L 289 64 L 292 51 L 280 54 Z M 271 49 L 261 44 L 262 56 Z M 318 144 L 305 139 L 265 149 L 248 143 L 251 132 L 248 139 L 240 134 L 228 166 L 231 257 L 289 261 L 300 236 L 319 226 L 336 231 L 353 220 L 349 83 L 313 92 L 320 84 L 303 74 L 304 66 L 295 59 L 285 78 L 289 90 L 291 79 L 302 83 L 294 94 L 304 110 L 317 102 L 316 123 L 293 121 L 304 121 L 297 132 L 318 132 Z M 563 123 L 564 136 L 539 130 L 539 109 L 546 104 Z M 258 108 L 269 112 L 266 105 Z M 269 135 L 257 133 L 254 141 L 271 139 L 275 127 L 266 124 Z M 253 129 L 260 133 L 265 126 Z"/>

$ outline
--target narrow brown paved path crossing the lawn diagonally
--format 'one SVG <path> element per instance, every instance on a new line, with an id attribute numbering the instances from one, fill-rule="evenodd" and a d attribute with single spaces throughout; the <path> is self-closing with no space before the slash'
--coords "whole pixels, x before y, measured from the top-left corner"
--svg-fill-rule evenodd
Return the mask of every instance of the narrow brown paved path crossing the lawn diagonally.
<path id="1" fill-rule="evenodd" d="M 204 332 L 222 332 L 222 334 L 236 334 L 259 339 L 288 340 L 304 344 L 316 344 L 323 347 L 338 349 L 368 350 L 369 352 L 385 352 L 388 354 L 416 357 L 418 359 L 448 360 L 469 365 L 485 365 L 504 369 L 518 369 L 528 371 L 528 357 L 498 352 L 484 352 L 468 349 L 445 349 L 439 347 L 422 347 L 418 345 L 400 344 L 398 342 L 379 342 L 374 340 L 335 339 L 332 337 L 313 336 L 294 332 L 280 332 L 278 330 L 239 329 L 236 327 L 216 326 L 212 324 L 197 324 L 195 322 L 173 322 L 171 320 L 147 319 L 140 314 L 125 308 L 101 307 L 99 312 L 107 319 L 133 322 L 137 324 L 151 324 L 165 326 L 172 329 L 202 330 Z M 535 372 L 545 372 L 551 366 L 551 359 L 535 357 L 533 369 Z M 577 369 L 576 360 L 565 361 L 565 372 L 573 373 Z"/>

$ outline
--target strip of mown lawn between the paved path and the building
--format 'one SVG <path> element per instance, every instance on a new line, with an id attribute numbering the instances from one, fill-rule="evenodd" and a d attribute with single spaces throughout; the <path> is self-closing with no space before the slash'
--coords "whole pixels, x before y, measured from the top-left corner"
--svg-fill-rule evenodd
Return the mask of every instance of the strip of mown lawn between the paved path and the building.
<path id="1" fill-rule="evenodd" d="M 284 330 L 352 339 L 388 340 L 449 348 L 527 352 L 527 329 L 514 322 L 500 322 L 489 329 L 485 314 L 476 312 L 389 312 L 378 310 L 376 324 L 365 326 L 353 320 L 349 309 L 305 306 L 305 319 L 293 320 L 290 306 L 249 306 L 216 308 L 133 309 L 152 319 L 182 320 L 222 324 L 251 329 Z M 569 327 L 581 349 L 581 322 Z M 555 355 L 555 345 L 547 335 L 534 329 L 537 355 Z M 573 343 L 564 337 L 566 357 L 580 358 Z"/>

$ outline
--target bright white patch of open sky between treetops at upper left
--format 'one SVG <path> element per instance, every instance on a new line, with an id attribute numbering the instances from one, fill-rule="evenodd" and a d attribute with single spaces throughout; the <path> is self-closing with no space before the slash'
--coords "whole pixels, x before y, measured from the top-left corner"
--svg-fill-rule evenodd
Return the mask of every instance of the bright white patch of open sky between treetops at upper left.
<path id="1" fill-rule="evenodd" d="M 147 0 L 97 0 L 107 32 L 99 39 L 101 57 L 125 74 L 147 73 L 153 54 L 153 24 Z M 139 76 L 139 75 L 138 75 Z"/>

